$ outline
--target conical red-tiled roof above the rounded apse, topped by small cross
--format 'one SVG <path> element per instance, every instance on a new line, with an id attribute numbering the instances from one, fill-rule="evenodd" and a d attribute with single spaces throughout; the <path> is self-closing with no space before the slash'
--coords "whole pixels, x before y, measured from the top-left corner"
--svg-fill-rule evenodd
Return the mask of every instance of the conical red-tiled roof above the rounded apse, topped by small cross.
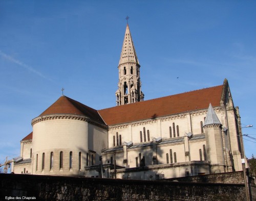
<path id="1" fill-rule="evenodd" d="M 83 105 L 67 96 L 60 96 L 57 101 L 47 108 L 39 116 L 45 116 L 50 114 L 77 114 L 89 117 L 100 123 L 104 123 L 97 110 Z"/>

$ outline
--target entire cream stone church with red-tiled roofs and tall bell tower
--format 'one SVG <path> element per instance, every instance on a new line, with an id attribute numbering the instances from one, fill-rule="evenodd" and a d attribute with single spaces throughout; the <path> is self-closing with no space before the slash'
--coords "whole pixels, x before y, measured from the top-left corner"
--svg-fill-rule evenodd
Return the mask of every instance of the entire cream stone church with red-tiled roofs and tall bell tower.
<path id="1" fill-rule="evenodd" d="M 128 24 L 118 72 L 115 107 L 95 110 L 62 95 L 32 119 L 12 172 L 160 180 L 242 170 L 239 109 L 226 79 L 144 101 Z"/>

